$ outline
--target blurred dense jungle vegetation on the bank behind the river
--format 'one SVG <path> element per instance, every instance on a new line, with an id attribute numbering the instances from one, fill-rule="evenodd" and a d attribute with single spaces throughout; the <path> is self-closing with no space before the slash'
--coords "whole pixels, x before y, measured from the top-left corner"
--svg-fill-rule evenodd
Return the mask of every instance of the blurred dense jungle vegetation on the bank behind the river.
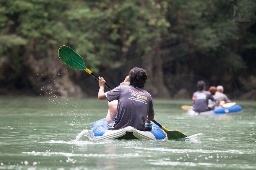
<path id="1" fill-rule="evenodd" d="M 67 45 L 119 85 L 135 66 L 153 97 L 190 98 L 197 80 L 256 99 L 255 0 L 0 0 L 0 94 L 96 96 L 60 61 Z"/>

